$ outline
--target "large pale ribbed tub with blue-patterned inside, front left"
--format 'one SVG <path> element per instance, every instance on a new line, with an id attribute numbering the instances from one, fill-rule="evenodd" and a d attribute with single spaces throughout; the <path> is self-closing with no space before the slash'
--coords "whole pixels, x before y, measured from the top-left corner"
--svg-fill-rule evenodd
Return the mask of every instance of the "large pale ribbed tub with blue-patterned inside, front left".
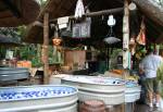
<path id="1" fill-rule="evenodd" d="M 0 112 L 77 112 L 77 89 L 71 86 L 0 88 Z"/>

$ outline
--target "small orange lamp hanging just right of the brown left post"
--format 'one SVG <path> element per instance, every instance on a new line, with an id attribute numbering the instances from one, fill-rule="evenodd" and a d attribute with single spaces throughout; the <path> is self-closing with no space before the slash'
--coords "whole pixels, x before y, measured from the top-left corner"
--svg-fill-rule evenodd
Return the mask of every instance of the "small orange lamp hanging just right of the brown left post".
<path id="1" fill-rule="evenodd" d="M 54 37 L 52 39 L 53 46 L 60 46 L 62 42 L 62 38 L 59 36 L 59 29 L 58 26 L 55 26 L 54 30 Z"/>

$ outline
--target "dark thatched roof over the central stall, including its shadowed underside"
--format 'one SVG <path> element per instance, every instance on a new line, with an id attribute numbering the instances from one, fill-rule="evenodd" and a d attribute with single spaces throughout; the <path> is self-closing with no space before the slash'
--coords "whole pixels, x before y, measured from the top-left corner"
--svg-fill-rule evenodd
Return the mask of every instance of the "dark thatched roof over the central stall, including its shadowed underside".
<path id="1" fill-rule="evenodd" d="M 66 16 L 66 15 L 74 15 L 76 1 L 77 0 L 49 0 L 47 2 L 47 4 L 45 5 L 45 8 L 39 13 L 37 22 L 42 23 L 45 12 L 50 13 L 50 20 Z M 123 8 L 123 5 L 124 5 L 123 0 L 83 0 L 83 1 L 84 1 L 85 5 L 88 5 L 90 12 L 114 9 L 114 8 Z M 133 0 L 133 1 L 136 2 L 136 0 Z M 138 0 L 138 1 L 149 1 L 149 0 Z M 138 2 L 136 2 L 136 3 L 139 8 L 139 14 L 143 13 L 146 15 L 148 38 L 150 38 L 152 41 L 153 40 L 155 41 L 163 30 L 163 25 L 161 23 L 161 22 L 163 22 L 163 17 L 159 16 L 159 17 L 161 17 L 161 18 L 159 18 L 159 20 L 161 20 L 161 22 L 155 22 L 155 20 L 158 20 L 156 16 L 151 16 L 152 13 L 143 12 L 143 10 L 146 10 L 147 7 L 145 7 L 142 9 Z M 154 4 L 151 4 L 151 5 L 154 5 Z M 155 5 L 154 5 L 154 8 L 155 8 Z M 158 7 L 156 7 L 156 9 L 158 9 Z M 159 8 L 155 11 L 160 11 L 162 13 L 161 8 Z M 115 32 L 116 37 L 122 39 L 122 37 L 123 37 L 122 36 L 123 35 L 123 33 L 122 33 L 123 13 L 115 15 L 115 18 L 116 18 L 117 23 L 116 23 L 116 26 L 114 27 L 114 32 Z M 108 20 L 108 16 L 104 16 L 104 20 L 102 20 L 101 16 L 97 16 L 97 17 L 92 18 L 92 26 L 91 26 L 92 35 L 91 35 L 90 39 L 87 39 L 87 41 L 89 43 L 102 40 L 103 37 L 108 34 L 109 27 L 106 25 L 106 20 Z M 156 29 L 155 27 L 159 27 L 159 29 Z M 33 42 L 33 43 L 37 43 L 37 42 L 42 43 L 42 33 L 43 33 L 42 26 L 34 23 L 28 27 L 28 32 L 27 32 L 27 35 L 25 36 L 24 40 L 27 42 Z M 50 32 L 50 38 L 51 38 L 51 36 L 52 36 L 52 33 Z M 155 38 L 153 36 L 155 36 Z M 78 40 L 72 41 L 72 40 L 68 40 L 67 38 L 64 38 L 64 39 L 67 40 L 67 42 L 71 41 L 71 43 L 78 42 Z M 86 43 L 87 41 L 80 40 L 79 42 Z"/>

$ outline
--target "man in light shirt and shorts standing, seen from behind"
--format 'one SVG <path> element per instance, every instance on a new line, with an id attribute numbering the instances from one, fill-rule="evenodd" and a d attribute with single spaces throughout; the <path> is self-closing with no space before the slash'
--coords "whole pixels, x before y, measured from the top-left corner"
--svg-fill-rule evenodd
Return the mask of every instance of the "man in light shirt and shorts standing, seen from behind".
<path id="1" fill-rule="evenodd" d="M 154 54 L 152 49 L 148 49 L 148 53 L 140 63 L 140 70 L 145 73 L 145 85 L 148 94 L 149 107 L 153 108 L 153 96 L 156 97 L 155 107 L 159 108 L 160 94 L 159 82 L 156 80 L 156 71 L 162 62 L 162 58 Z"/>

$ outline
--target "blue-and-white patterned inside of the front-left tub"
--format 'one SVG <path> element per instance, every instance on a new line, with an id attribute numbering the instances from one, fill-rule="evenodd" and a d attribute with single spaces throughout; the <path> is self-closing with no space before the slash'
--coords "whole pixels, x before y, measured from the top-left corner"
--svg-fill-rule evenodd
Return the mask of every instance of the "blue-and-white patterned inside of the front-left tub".
<path id="1" fill-rule="evenodd" d="M 74 94 L 77 94 L 77 89 L 70 86 L 2 87 L 0 101 L 65 97 Z"/>

